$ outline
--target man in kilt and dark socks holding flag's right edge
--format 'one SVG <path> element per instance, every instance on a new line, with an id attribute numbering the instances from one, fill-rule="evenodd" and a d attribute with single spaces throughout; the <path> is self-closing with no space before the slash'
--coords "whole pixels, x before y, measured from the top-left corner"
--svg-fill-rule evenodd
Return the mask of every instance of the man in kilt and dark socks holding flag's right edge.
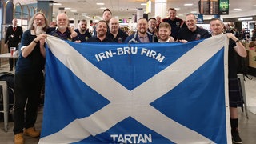
<path id="1" fill-rule="evenodd" d="M 223 34 L 224 24 L 219 18 L 210 20 L 211 36 Z M 238 80 L 238 58 L 241 56 L 246 58 L 246 48 L 242 45 L 238 38 L 232 33 L 226 34 L 229 40 L 228 49 L 228 78 L 229 78 L 229 102 L 230 102 L 230 124 L 231 136 L 233 143 L 242 143 L 238 132 L 238 106 L 242 106 L 242 90 Z"/>

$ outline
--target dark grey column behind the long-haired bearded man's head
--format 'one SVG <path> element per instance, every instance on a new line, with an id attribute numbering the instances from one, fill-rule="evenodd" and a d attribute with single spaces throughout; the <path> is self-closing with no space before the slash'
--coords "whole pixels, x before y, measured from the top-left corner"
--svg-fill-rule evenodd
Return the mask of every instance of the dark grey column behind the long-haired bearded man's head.
<path id="1" fill-rule="evenodd" d="M 38 10 L 42 10 L 46 14 L 49 22 L 53 21 L 53 1 L 38 0 Z"/>

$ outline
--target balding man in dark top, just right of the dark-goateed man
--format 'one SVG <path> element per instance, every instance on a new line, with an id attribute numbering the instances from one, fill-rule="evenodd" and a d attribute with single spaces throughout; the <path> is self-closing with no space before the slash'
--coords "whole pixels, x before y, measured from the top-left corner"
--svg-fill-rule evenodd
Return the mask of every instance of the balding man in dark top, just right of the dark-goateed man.
<path id="1" fill-rule="evenodd" d="M 126 38 L 128 37 L 128 34 L 126 34 L 120 29 L 118 19 L 111 18 L 109 22 L 109 26 L 110 26 L 110 33 L 108 34 L 107 37 L 110 38 L 112 42 L 118 42 L 118 43 L 125 42 Z"/>

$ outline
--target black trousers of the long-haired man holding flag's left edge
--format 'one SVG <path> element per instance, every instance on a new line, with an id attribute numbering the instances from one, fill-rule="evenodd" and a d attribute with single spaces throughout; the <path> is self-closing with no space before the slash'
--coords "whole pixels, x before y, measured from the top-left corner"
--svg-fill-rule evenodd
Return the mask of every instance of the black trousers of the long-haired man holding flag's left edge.
<path id="1" fill-rule="evenodd" d="M 15 74 L 14 134 L 34 126 L 42 89 L 42 73 Z M 26 107 L 26 110 L 24 110 Z"/>

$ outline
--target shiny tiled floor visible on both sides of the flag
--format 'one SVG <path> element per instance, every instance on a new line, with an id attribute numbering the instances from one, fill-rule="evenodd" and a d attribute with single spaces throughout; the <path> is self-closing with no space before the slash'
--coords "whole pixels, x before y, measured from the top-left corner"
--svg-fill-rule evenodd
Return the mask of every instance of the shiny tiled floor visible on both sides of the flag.
<path id="1" fill-rule="evenodd" d="M 9 66 L 1 66 L 0 72 L 8 71 Z M 242 141 L 244 144 L 255 144 L 256 143 L 256 78 L 249 76 L 250 79 L 246 78 L 246 100 L 248 106 L 249 119 L 246 118 L 246 113 L 242 112 L 242 109 L 238 109 L 239 114 L 239 129 Z M 38 112 L 38 121 L 36 122 L 36 129 L 40 130 L 42 124 L 42 107 Z M 11 144 L 14 143 L 14 135 L 12 132 L 14 122 L 9 122 L 8 132 L 4 131 L 3 122 L 0 122 L 0 144 Z M 26 144 L 38 143 L 39 138 L 26 137 Z"/>

